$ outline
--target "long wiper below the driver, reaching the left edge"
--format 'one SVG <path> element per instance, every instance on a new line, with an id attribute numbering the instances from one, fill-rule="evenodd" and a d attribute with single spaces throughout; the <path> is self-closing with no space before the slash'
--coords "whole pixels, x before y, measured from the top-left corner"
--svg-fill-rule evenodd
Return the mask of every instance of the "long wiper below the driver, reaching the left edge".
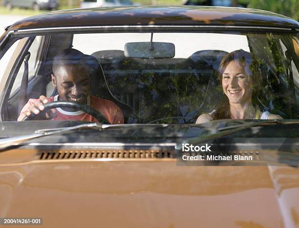
<path id="1" fill-rule="evenodd" d="M 0 150 L 4 150 L 10 146 L 20 145 L 23 142 L 26 142 L 31 139 L 36 139 L 44 136 L 55 135 L 62 132 L 81 130 L 81 129 L 96 129 L 103 130 L 107 128 L 126 128 L 126 127 L 167 127 L 169 124 L 99 124 L 99 123 L 90 123 L 90 124 L 79 124 L 69 127 L 59 127 L 59 128 L 48 128 L 48 129 L 39 129 L 36 130 L 33 134 L 27 134 L 24 136 L 11 137 L 8 139 L 0 139 Z"/>

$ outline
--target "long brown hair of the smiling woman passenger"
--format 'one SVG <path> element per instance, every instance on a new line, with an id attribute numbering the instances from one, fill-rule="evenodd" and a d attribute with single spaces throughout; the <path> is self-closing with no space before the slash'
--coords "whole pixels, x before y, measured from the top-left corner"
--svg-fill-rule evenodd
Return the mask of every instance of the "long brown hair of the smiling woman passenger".
<path id="1" fill-rule="evenodd" d="M 242 49 L 240 50 L 235 50 L 231 53 L 228 53 L 225 55 L 219 65 L 219 81 L 222 84 L 222 74 L 227 67 L 227 65 L 234 61 L 237 60 L 242 64 L 245 68 L 245 72 L 252 77 L 253 81 L 253 94 L 252 94 L 252 103 L 253 105 L 257 108 L 257 96 L 258 96 L 258 91 L 260 88 L 260 71 L 259 67 L 256 67 L 256 62 L 253 60 L 253 56 L 251 53 L 246 52 Z M 219 120 L 219 119 L 231 119 L 231 112 L 230 112 L 230 102 L 229 99 L 226 95 L 224 95 L 222 102 L 212 113 L 212 119 L 213 120 Z"/>

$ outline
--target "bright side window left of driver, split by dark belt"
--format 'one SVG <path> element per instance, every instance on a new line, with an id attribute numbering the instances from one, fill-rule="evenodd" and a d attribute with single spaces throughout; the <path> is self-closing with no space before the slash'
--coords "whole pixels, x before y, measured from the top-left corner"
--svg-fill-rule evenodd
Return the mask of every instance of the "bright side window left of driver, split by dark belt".
<path id="1" fill-rule="evenodd" d="M 41 40 L 42 40 L 41 38 L 42 38 L 41 36 L 36 37 L 28 50 L 30 52 L 30 58 L 28 61 L 28 80 L 32 79 L 32 77 L 35 76 L 37 67 L 39 65 L 37 56 L 38 56 L 38 48 L 39 48 L 39 46 L 41 44 Z M 24 67 L 25 67 L 25 63 L 22 62 L 19 72 L 17 74 L 16 80 L 12 87 L 10 97 L 12 95 L 14 95 L 15 91 L 17 89 L 19 89 L 21 86 L 21 80 L 22 80 L 23 73 L 24 73 Z"/>

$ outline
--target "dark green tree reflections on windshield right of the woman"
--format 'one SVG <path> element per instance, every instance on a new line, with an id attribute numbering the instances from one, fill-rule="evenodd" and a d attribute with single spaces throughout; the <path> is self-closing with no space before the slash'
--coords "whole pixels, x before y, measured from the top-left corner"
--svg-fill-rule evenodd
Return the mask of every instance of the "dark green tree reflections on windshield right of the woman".
<path id="1" fill-rule="evenodd" d="M 287 119 L 296 118 L 293 76 L 290 78 L 288 75 L 288 63 L 279 40 L 272 34 L 265 37 L 249 35 L 249 40 L 257 63 L 254 70 L 261 74 L 258 95 L 261 110 L 268 109 L 271 113 Z"/>

